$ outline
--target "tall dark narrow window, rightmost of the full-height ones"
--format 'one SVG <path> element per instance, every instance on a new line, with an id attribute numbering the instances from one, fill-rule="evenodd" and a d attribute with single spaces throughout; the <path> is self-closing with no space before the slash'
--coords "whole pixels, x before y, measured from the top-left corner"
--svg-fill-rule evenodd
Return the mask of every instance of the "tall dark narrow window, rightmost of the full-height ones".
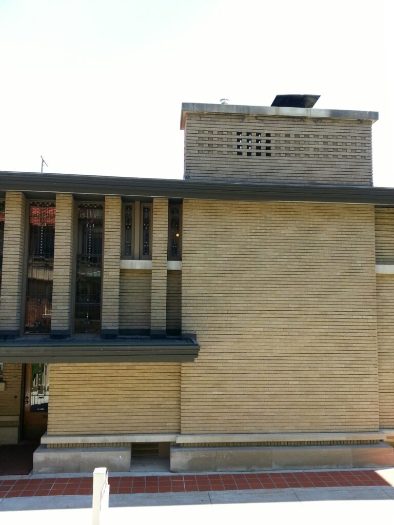
<path id="1" fill-rule="evenodd" d="M 78 205 L 76 333 L 100 331 L 102 218 L 102 204 Z"/>

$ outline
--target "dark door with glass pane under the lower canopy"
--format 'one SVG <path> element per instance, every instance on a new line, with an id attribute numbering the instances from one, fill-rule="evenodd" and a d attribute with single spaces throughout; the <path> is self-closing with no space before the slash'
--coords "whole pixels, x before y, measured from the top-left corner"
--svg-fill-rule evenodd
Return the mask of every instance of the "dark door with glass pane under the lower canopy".
<path id="1" fill-rule="evenodd" d="M 47 430 L 49 400 L 49 366 L 26 365 L 23 438 L 40 438 Z"/>

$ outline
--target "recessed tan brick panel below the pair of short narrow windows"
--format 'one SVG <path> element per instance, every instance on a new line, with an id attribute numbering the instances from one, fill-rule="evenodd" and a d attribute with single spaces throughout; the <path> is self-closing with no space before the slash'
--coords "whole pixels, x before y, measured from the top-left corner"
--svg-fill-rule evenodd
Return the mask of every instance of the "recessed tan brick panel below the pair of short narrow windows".
<path id="1" fill-rule="evenodd" d="M 149 330 L 151 306 L 151 271 L 120 271 L 121 330 Z"/>

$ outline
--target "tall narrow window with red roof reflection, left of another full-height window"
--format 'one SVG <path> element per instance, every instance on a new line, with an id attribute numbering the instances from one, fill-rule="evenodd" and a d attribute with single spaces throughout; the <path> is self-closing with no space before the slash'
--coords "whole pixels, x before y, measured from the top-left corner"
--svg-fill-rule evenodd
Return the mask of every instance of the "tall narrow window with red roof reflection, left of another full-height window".
<path id="1" fill-rule="evenodd" d="M 25 333 L 49 333 L 55 245 L 55 203 L 29 207 Z"/>

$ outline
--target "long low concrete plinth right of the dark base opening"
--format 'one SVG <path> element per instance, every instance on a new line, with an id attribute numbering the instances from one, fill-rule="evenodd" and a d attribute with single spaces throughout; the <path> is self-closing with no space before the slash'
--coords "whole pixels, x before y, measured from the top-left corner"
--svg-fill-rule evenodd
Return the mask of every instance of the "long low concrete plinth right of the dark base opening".
<path id="1" fill-rule="evenodd" d="M 379 445 L 171 447 L 172 472 L 225 472 L 394 466 L 394 449 Z"/>

